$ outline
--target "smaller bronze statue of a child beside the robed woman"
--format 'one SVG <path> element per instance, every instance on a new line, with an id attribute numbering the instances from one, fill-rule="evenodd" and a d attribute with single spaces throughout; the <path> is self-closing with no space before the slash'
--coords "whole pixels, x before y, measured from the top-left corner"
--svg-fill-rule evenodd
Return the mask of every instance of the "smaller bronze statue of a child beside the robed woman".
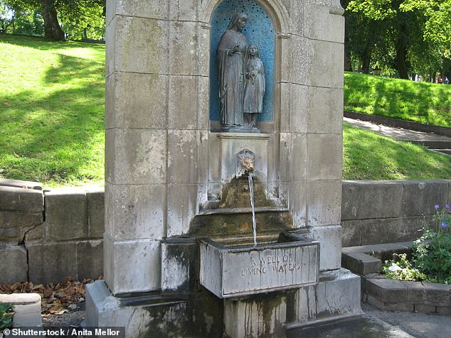
<path id="1" fill-rule="evenodd" d="M 263 109 L 265 95 L 265 69 L 256 45 L 250 45 L 246 53 L 243 114 L 247 128 L 257 128 L 257 116 Z"/>

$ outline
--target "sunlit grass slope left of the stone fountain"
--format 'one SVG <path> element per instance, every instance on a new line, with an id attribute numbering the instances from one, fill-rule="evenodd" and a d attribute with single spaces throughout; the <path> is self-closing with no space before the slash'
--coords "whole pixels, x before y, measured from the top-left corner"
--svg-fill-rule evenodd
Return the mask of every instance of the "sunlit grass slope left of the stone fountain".
<path id="1" fill-rule="evenodd" d="M 102 184 L 105 46 L 0 35 L 0 176 Z"/>

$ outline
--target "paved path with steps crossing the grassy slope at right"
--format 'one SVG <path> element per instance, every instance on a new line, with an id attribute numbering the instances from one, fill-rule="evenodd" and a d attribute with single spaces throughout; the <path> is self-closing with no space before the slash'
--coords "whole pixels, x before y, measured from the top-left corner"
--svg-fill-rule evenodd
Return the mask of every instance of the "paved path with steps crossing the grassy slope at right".
<path id="1" fill-rule="evenodd" d="M 369 121 L 361 121 L 357 119 L 349 119 L 344 117 L 343 121 L 351 126 L 356 126 L 368 131 L 374 131 L 383 136 L 395 138 L 399 141 L 408 141 L 415 144 L 426 146 L 434 151 L 451 155 L 451 137 L 436 135 L 435 133 L 425 133 L 423 131 L 412 131 L 408 129 L 384 126 Z"/>

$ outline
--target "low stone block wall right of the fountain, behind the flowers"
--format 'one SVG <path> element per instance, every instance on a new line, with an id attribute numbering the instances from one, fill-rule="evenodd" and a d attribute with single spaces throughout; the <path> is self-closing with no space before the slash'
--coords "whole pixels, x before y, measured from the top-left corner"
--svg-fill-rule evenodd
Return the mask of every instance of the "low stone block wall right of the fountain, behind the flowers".
<path id="1" fill-rule="evenodd" d="M 435 205 L 451 204 L 451 180 L 344 181 L 342 246 L 413 241 Z"/>

